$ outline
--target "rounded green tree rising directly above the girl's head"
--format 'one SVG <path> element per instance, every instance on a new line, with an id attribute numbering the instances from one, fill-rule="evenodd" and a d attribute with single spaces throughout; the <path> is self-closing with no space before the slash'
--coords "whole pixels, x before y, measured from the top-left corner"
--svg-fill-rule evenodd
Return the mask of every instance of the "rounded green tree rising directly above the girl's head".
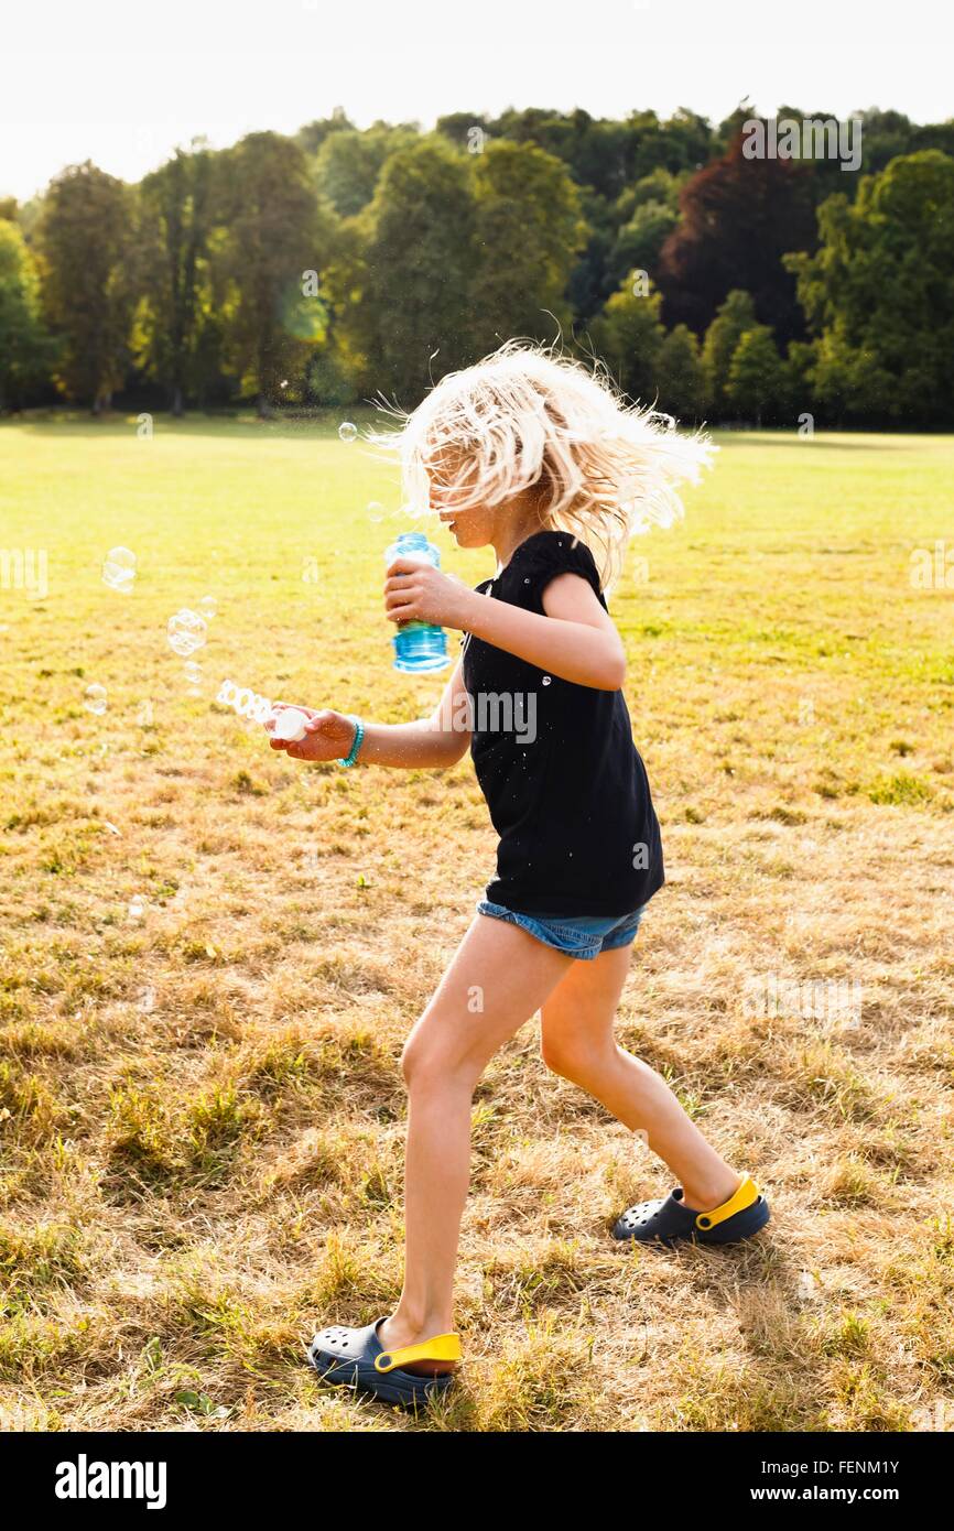
<path id="1" fill-rule="evenodd" d="M 476 349 L 568 328 L 567 283 L 586 230 L 567 167 L 534 144 L 505 139 L 488 142 L 470 164 L 479 250 L 470 286 Z"/>

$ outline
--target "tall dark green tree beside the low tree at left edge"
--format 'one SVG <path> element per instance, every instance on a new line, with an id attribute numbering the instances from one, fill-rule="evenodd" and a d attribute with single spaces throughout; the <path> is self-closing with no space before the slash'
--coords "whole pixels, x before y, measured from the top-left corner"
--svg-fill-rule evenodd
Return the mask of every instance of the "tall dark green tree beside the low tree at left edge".
<path id="1" fill-rule="evenodd" d="M 37 228 L 43 303 L 63 337 L 57 383 L 109 409 L 129 363 L 135 306 L 130 190 L 86 161 L 51 184 Z"/>

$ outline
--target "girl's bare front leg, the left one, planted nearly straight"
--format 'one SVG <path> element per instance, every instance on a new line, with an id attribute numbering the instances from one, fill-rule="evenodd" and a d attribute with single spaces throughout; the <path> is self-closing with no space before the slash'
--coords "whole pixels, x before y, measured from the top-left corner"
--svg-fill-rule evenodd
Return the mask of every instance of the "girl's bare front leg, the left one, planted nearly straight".
<path id="1" fill-rule="evenodd" d="M 404 1288 L 378 1329 L 386 1349 L 453 1329 L 473 1089 L 493 1053 L 539 1010 L 571 966 L 573 957 L 519 926 L 478 914 L 407 1038 L 401 1058 L 409 1096 Z"/>

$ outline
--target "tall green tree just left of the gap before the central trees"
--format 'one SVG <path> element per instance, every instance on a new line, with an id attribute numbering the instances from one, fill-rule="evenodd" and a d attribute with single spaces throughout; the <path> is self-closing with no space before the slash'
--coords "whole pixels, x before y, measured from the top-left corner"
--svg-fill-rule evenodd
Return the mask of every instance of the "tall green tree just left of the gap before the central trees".
<path id="1" fill-rule="evenodd" d="M 326 263 L 334 216 L 319 205 L 305 152 L 280 133 L 250 133 L 221 168 L 214 279 L 225 346 L 242 390 L 268 415 L 282 383 L 305 377 L 325 331 L 303 274 Z"/>

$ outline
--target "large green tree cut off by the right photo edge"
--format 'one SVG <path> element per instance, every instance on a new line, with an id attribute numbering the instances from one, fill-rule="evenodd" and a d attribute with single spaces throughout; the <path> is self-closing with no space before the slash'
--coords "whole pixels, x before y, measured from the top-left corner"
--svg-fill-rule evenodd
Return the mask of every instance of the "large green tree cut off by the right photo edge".
<path id="1" fill-rule="evenodd" d="M 954 158 L 937 149 L 828 197 L 821 245 L 792 254 L 816 387 L 853 418 L 954 419 Z"/>

